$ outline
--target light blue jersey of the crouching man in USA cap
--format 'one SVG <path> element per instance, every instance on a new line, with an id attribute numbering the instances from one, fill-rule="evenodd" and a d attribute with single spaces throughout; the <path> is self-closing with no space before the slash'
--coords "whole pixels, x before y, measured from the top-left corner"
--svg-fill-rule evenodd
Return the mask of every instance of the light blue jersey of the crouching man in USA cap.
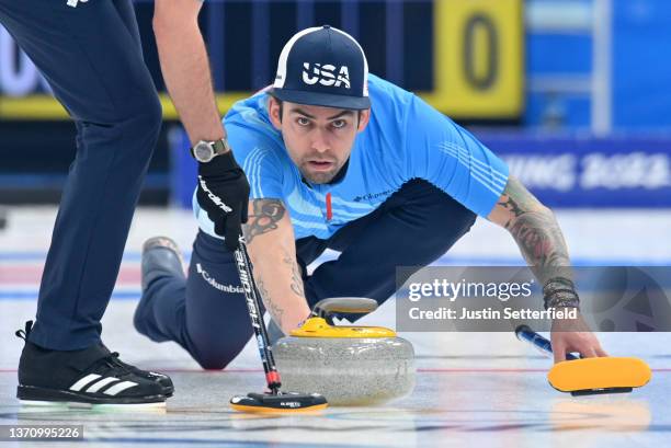
<path id="1" fill-rule="evenodd" d="M 268 93 L 236 103 L 225 125 L 250 198 L 282 199 L 296 239 L 328 239 L 412 179 L 431 182 L 479 216 L 489 215 L 508 181 L 505 163 L 417 95 L 373 74 L 368 91 L 371 122 L 356 136 L 346 174 L 333 184 L 302 181 L 268 116 Z M 195 194 L 193 208 L 201 229 L 217 237 Z"/>

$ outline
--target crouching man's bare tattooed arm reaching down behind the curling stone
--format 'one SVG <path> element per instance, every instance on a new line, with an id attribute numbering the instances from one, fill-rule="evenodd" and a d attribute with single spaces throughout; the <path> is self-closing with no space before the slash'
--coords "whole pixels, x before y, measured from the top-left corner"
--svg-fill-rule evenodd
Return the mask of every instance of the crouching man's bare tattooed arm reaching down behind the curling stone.
<path id="1" fill-rule="evenodd" d="M 251 199 L 243 230 L 263 305 L 288 334 L 308 317 L 310 309 L 296 262 L 294 229 L 282 200 Z"/>

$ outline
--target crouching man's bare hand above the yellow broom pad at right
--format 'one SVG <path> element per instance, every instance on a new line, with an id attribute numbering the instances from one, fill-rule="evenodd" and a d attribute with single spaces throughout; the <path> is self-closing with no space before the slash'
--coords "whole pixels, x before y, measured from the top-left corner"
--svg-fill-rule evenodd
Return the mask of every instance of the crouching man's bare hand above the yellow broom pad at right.
<path id="1" fill-rule="evenodd" d="M 550 342 L 555 363 L 566 360 L 566 354 L 578 352 L 583 358 L 609 356 L 596 336 L 592 334 L 582 315 L 577 319 L 556 319 L 553 321 Z"/>

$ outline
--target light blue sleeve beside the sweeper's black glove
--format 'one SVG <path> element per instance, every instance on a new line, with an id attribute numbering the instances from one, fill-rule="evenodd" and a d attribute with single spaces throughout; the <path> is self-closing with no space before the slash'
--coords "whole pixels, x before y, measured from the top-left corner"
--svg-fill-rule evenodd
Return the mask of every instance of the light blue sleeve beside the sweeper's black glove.
<path id="1" fill-rule="evenodd" d="M 282 198 L 284 164 L 278 160 L 277 143 L 263 134 L 247 127 L 226 125 L 228 142 L 236 161 L 249 181 L 250 199 Z"/>

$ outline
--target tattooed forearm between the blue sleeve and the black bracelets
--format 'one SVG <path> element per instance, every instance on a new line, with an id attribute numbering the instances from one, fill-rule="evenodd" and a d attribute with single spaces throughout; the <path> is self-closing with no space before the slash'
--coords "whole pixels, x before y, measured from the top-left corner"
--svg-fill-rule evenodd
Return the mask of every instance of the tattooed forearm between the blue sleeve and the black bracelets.
<path id="1" fill-rule="evenodd" d="M 545 284 L 553 277 L 567 276 L 570 259 L 554 214 L 512 177 L 498 205 L 509 210 L 504 227 L 538 280 Z"/>

